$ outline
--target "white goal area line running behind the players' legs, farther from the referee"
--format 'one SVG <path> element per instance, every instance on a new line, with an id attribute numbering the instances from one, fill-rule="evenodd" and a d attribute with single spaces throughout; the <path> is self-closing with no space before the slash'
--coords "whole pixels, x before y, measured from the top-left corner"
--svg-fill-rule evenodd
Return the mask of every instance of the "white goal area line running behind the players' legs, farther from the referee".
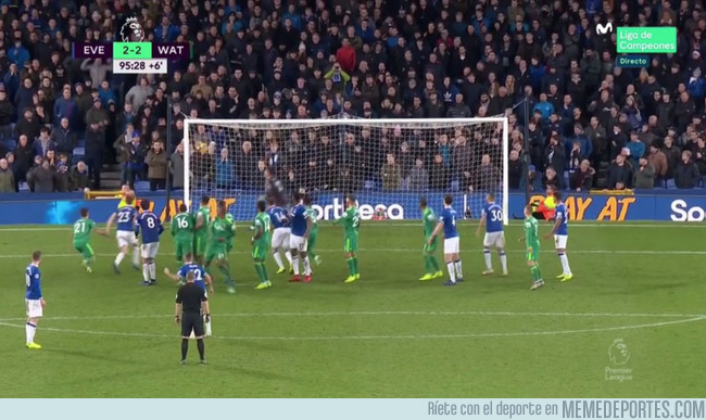
<path id="1" fill-rule="evenodd" d="M 358 250 L 360 253 L 380 253 L 380 252 L 389 252 L 389 253 L 403 253 L 403 252 L 419 252 L 421 247 L 389 247 L 389 249 L 361 249 Z M 483 250 L 481 249 L 472 249 L 472 250 L 462 250 L 462 253 L 471 253 L 471 252 L 482 252 Z M 322 249 L 322 250 L 316 250 L 316 252 L 320 253 L 343 253 L 342 250 L 336 249 Z M 505 252 L 509 253 L 526 253 L 525 250 L 506 250 Z M 550 252 L 550 251 L 546 251 Z M 568 250 L 567 251 L 569 254 L 623 254 L 623 255 L 706 255 L 706 251 L 655 251 L 655 250 Z M 250 251 L 231 251 L 231 254 L 248 254 L 250 255 Z M 173 253 L 159 253 L 159 255 L 171 255 L 173 256 Z M 41 254 L 42 258 L 64 258 L 64 257 L 77 257 L 78 253 L 74 254 Z M 96 254 L 96 256 L 115 256 L 115 254 L 110 254 L 110 253 L 99 253 Z M 28 255 L 26 254 L 3 254 L 0 255 L 0 258 L 28 258 Z"/>

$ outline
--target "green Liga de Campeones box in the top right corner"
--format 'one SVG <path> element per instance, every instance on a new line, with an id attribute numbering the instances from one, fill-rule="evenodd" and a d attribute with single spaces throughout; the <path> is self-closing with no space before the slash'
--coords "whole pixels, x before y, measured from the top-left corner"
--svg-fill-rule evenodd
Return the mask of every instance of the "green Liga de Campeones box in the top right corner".
<path id="1" fill-rule="evenodd" d="M 616 42 L 619 54 L 673 54 L 677 52 L 677 28 L 619 26 Z"/>

